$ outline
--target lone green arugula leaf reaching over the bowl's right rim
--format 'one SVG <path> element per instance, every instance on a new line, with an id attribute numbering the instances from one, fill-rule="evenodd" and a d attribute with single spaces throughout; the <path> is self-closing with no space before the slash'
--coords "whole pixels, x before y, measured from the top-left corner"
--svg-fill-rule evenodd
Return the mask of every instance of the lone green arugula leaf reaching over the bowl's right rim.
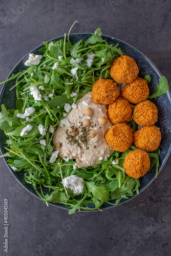
<path id="1" fill-rule="evenodd" d="M 165 76 L 162 76 L 159 78 L 159 84 L 157 84 L 154 93 L 151 96 L 148 96 L 148 99 L 156 99 L 158 96 L 165 94 L 167 90 L 169 90 L 167 79 Z"/>

